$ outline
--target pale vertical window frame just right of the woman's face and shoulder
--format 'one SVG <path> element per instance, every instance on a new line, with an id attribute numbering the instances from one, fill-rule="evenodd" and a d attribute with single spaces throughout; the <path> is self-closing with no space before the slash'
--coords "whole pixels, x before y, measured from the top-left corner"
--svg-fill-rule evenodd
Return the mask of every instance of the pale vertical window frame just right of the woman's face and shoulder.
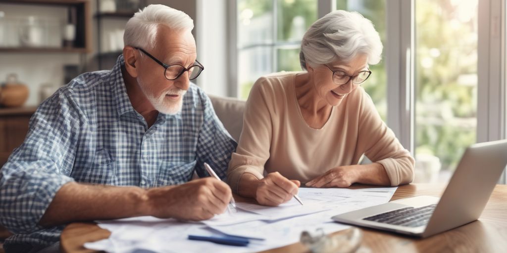
<path id="1" fill-rule="evenodd" d="M 387 125 L 414 155 L 414 0 L 386 1 Z M 404 127 L 409 125 L 410 128 Z"/>

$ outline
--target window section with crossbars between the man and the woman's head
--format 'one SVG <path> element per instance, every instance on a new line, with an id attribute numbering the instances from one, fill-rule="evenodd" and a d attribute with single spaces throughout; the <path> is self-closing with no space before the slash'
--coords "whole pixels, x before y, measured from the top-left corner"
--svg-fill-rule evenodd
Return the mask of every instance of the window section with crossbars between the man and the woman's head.
<path id="1" fill-rule="evenodd" d="M 317 0 L 238 0 L 238 96 L 262 75 L 300 71 L 299 48 L 317 20 Z"/>

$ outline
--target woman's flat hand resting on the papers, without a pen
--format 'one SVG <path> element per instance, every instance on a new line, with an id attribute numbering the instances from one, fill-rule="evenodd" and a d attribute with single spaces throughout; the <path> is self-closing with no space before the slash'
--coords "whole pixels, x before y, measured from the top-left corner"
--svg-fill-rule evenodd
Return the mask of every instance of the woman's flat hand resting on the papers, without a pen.
<path id="1" fill-rule="evenodd" d="M 354 166 L 332 168 L 324 173 L 324 175 L 314 178 L 305 185 L 314 188 L 349 187 L 353 183 L 356 183 L 357 175 L 353 168 Z"/>

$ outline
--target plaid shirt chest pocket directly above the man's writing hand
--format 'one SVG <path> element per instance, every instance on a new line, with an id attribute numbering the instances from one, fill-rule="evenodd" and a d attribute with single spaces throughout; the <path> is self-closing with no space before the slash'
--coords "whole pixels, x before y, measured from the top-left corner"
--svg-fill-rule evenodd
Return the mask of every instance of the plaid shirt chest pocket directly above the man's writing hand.
<path id="1" fill-rule="evenodd" d="M 197 160 L 162 161 L 157 176 L 157 186 L 175 185 L 190 181 Z"/>

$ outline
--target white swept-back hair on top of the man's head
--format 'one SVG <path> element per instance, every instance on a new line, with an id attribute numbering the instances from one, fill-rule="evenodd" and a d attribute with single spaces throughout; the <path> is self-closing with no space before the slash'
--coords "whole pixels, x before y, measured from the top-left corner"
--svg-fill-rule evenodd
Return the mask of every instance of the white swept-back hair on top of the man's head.
<path id="1" fill-rule="evenodd" d="M 186 13 L 165 5 L 149 5 L 139 10 L 125 25 L 125 46 L 150 50 L 155 48 L 159 25 L 174 30 L 192 31 L 194 20 Z"/>

